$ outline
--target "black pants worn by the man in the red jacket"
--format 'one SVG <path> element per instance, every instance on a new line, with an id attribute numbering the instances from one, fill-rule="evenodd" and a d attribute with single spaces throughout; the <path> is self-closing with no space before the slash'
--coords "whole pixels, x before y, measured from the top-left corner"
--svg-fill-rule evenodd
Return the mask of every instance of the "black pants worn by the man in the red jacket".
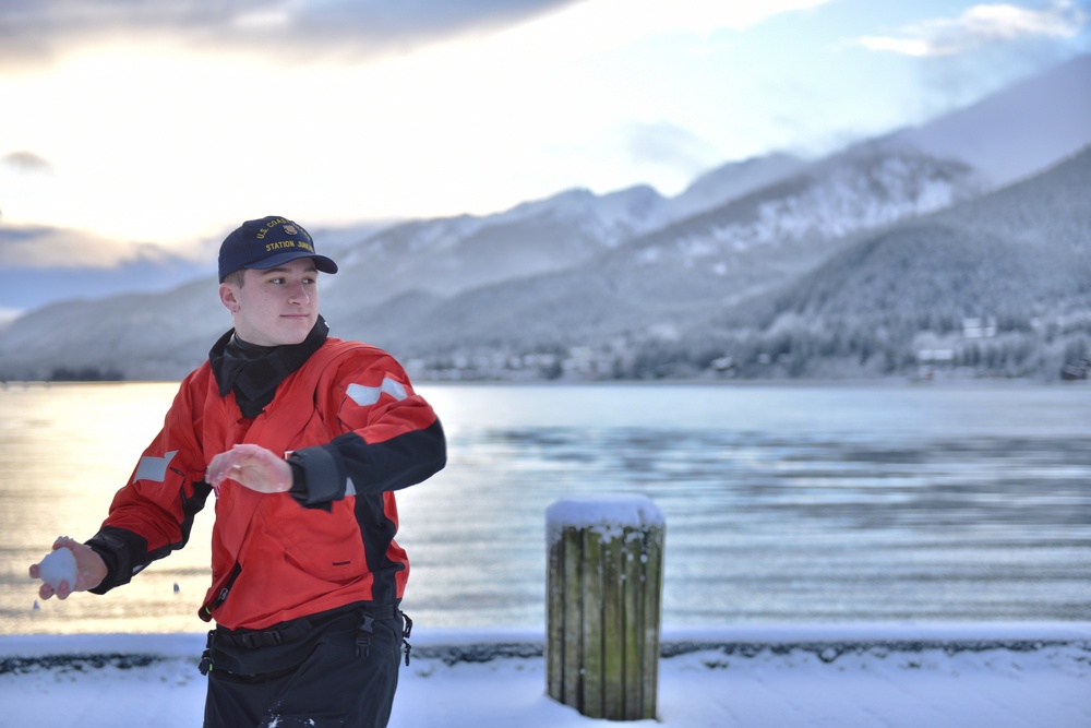
<path id="1" fill-rule="evenodd" d="M 359 606 L 335 610 L 308 618 L 284 644 L 253 647 L 232 644 L 237 633 L 213 632 L 204 728 L 385 728 L 401 617 L 369 621 L 370 632 L 362 622 Z"/>

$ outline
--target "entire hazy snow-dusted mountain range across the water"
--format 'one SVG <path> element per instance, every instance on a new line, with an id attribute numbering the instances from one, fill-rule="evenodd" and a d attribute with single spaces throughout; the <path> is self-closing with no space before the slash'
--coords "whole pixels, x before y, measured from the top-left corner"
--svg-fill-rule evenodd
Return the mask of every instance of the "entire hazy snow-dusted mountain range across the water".
<path id="1" fill-rule="evenodd" d="M 898 359 L 861 371 L 902 372 L 921 341 L 946 346 L 973 317 L 1007 317 L 994 327 L 1010 344 L 1012 326 L 1027 333 L 1056 321 L 1057 306 L 1076 315 L 1076 299 L 1057 295 L 1067 278 L 1040 263 L 1075 256 L 1069 270 L 1082 270 L 1072 261 L 1089 247 L 1080 198 L 1091 199 L 1091 187 L 1071 170 L 1087 165 L 1087 153 L 1027 186 L 997 192 L 996 180 L 1043 172 L 1091 144 L 1091 106 L 1074 92 L 1080 84 L 1091 87 L 1091 57 L 823 159 L 727 165 L 674 199 L 648 187 L 570 190 L 497 215 L 369 231 L 338 246 L 341 272 L 325 279 L 323 312 L 336 335 L 385 346 L 419 375 L 436 377 L 819 375 L 831 373 L 819 360 L 874 358 L 846 343 L 853 336 Z M 995 118 L 1021 108 L 1020 98 L 1034 102 L 1033 115 Z M 1039 140 L 1043 130 L 1048 143 Z M 973 261 L 981 273 L 971 274 Z M 939 295 L 945 286 L 976 293 Z M 1018 300 L 1032 301 L 1034 315 L 1009 315 L 988 298 L 1006 290 L 1026 294 Z M 900 311 L 895 300 L 913 302 L 897 331 L 882 317 L 844 311 Z M 886 333 L 862 335 L 875 321 Z M 161 295 L 56 305 L 0 333 L 0 378 L 48 378 L 58 368 L 178 378 L 228 325 L 212 276 Z M 1077 356 L 1076 331 L 1056 357 Z M 1019 346 L 1031 346 L 1028 336 Z M 1026 359 L 1005 371 L 1052 366 Z"/>

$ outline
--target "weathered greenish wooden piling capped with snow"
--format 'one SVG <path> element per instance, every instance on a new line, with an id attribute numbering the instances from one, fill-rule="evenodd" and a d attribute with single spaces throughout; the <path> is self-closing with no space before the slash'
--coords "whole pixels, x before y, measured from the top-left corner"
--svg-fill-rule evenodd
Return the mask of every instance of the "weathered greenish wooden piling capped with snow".
<path id="1" fill-rule="evenodd" d="M 666 523 L 640 496 L 547 512 L 549 695 L 583 715 L 655 719 Z"/>

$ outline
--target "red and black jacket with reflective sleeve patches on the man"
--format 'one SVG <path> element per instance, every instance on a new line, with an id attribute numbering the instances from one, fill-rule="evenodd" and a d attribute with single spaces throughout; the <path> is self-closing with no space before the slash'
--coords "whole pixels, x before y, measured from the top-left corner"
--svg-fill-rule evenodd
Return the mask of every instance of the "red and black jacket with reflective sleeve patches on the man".
<path id="1" fill-rule="evenodd" d="M 335 338 L 289 374 L 255 418 L 242 416 L 233 393 L 220 396 L 208 362 L 185 378 L 163 430 L 88 541 L 109 570 L 94 592 L 128 583 L 184 546 L 211 491 L 207 463 L 243 442 L 290 455 L 304 487 L 263 494 L 223 485 L 202 619 L 265 629 L 355 601 L 401 598 L 409 560 L 394 540 L 393 491 L 443 467 L 443 430 L 389 355 Z"/>

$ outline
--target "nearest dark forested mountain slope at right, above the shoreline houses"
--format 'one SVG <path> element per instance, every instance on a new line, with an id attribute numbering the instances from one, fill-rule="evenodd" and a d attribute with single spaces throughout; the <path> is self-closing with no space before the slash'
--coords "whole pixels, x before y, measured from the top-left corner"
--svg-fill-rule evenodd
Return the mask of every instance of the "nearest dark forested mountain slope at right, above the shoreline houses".
<path id="1" fill-rule="evenodd" d="M 942 362 L 1055 378 L 1065 365 L 1091 365 L 1089 191 L 1091 146 L 1038 177 L 871 234 L 752 308 L 751 344 L 803 375 Z"/>

